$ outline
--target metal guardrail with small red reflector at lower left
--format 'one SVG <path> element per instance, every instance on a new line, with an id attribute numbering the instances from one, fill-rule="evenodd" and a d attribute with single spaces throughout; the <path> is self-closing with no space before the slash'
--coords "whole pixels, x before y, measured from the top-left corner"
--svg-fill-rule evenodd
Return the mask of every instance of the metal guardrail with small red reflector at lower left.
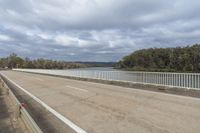
<path id="1" fill-rule="evenodd" d="M 15 119 L 18 119 L 18 117 L 20 117 L 24 121 L 24 124 L 26 125 L 30 133 L 42 133 L 42 130 L 26 111 L 24 104 L 19 102 L 19 100 L 15 97 L 13 92 L 9 89 L 9 87 L 7 87 L 7 85 L 4 82 L 3 84 L 4 88 L 7 89 L 7 94 L 16 106 Z"/>

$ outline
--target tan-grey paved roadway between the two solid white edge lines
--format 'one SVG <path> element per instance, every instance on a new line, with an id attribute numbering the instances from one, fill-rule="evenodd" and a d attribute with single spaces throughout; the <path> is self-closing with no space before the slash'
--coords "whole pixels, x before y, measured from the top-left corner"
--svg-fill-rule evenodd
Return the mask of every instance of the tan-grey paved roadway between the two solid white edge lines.
<path id="1" fill-rule="evenodd" d="M 199 133 L 200 99 L 2 71 L 88 133 Z"/>

